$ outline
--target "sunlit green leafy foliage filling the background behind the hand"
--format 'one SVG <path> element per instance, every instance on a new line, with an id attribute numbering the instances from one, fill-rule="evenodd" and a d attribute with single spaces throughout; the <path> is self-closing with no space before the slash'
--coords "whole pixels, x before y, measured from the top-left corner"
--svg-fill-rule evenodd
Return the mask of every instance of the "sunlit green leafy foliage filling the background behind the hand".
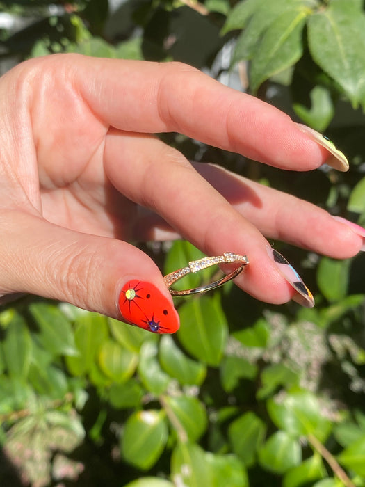
<path id="1" fill-rule="evenodd" d="M 0 53 L 10 63 L 59 51 L 175 59 L 232 83 L 239 65 L 252 93 L 328 127 L 350 171 L 278 173 L 165 140 L 365 223 L 363 2 L 233 3 L 1 1 L 22 22 L 0 32 Z M 181 241 L 167 253 L 141 247 L 165 273 L 200 256 Z M 157 337 L 65 303 L 3 307 L 1 484 L 20 482 L 11 461 L 38 487 L 365 486 L 364 256 L 277 247 L 302 269 L 316 308 L 266 305 L 227 285 L 181 298 L 181 330 Z"/>

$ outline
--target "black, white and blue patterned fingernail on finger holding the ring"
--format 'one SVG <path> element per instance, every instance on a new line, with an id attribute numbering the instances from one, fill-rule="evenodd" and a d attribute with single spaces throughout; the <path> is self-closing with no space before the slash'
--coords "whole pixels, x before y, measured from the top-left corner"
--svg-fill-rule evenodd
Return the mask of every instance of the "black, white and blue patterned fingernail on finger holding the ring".
<path id="1" fill-rule="evenodd" d="M 289 262 L 282 256 L 277 250 L 274 248 L 267 246 L 268 256 L 277 266 L 277 270 L 283 278 L 289 282 L 291 286 L 296 291 L 295 296 L 293 296 L 293 300 L 299 303 L 306 308 L 313 308 L 314 307 L 314 297 L 313 294 L 309 291 L 305 283 L 303 282 L 302 278 L 299 276 L 298 272 L 295 271 L 293 266 L 289 264 Z"/>

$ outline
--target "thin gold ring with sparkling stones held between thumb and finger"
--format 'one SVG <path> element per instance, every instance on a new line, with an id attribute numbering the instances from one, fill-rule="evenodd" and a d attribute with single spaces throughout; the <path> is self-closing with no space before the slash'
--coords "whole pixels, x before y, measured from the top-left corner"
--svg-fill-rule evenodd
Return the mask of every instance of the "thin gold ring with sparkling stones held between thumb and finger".
<path id="1" fill-rule="evenodd" d="M 237 263 L 240 265 L 233 272 L 227 274 L 227 276 L 215 280 L 214 282 L 209 282 L 209 284 L 195 287 L 193 289 L 183 289 L 182 291 L 171 289 L 171 286 L 175 284 L 175 282 L 177 282 L 181 278 L 184 278 L 184 276 L 186 276 L 186 274 L 189 274 L 190 272 L 196 273 L 202 271 L 202 269 L 206 269 L 207 267 L 215 266 L 216 264 L 232 263 Z M 223 284 L 225 284 L 225 282 L 236 278 L 236 276 L 238 276 L 238 274 L 243 271 L 244 266 L 247 266 L 247 264 L 248 258 L 245 255 L 225 252 L 223 255 L 216 255 L 214 257 L 203 257 L 202 259 L 193 260 L 188 263 L 188 266 L 177 269 L 177 271 L 170 272 L 170 274 L 167 274 L 163 278 L 163 280 L 165 281 L 165 285 L 168 287 L 168 290 L 170 291 L 170 294 L 172 294 L 172 296 L 187 296 L 188 294 L 206 292 L 210 291 L 211 289 L 215 289 L 216 287 L 222 286 Z"/>

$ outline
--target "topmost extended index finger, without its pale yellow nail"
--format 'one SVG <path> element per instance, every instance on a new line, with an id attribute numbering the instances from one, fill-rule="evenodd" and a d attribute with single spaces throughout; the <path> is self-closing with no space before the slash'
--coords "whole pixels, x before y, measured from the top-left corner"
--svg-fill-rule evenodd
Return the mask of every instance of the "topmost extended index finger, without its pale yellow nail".
<path id="1" fill-rule="evenodd" d="M 105 125 L 177 131 L 285 169 L 314 169 L 329 157 L 288 115 L 187 65 L 70 59 L 77 92 Z"/>

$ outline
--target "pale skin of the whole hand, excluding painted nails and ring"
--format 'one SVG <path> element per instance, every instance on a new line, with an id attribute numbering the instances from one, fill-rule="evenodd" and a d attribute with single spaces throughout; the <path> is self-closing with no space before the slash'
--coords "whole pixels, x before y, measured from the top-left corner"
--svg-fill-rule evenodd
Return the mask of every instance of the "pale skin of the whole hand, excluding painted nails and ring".
<path id="1" fill-rule="evenodd" d="M 181 236 L 207 255 L 248 255 L 236 284 L 284 303 L 294 290 L 267 239 L 339 259 L 362 246 L 323 209 L 192 165 L 153 135 L 177 131 L 290 170 L 316 169 L 329 155 L 284 113 L 187 65 L 34 59 L 0 79 L 0 113 L 0 294 L 120 318 L 117 296 L 133 278 L 171 300 L 156 264 L 128 242 Z"/>

